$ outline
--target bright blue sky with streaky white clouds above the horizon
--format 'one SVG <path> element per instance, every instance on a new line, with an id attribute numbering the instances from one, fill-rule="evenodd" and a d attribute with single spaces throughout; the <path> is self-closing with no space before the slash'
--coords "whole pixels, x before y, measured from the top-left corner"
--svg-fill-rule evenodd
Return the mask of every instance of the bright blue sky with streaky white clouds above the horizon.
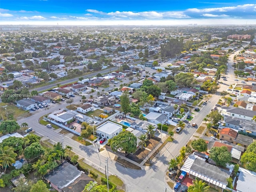
<path id="1" fill-rule="evenodd" d="M 256 24 L 256 1 L 1 0 L 0 24 Z"/>

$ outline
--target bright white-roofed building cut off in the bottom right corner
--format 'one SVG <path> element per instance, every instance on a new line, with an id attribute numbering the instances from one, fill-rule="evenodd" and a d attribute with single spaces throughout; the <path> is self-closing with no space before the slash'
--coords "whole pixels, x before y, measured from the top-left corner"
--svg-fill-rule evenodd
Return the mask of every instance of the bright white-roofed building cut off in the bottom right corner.
<path id="1" fill-rule="evenodd" d="M 251 192 L 256 189 L 256 172 L 246 170 L 244 168 L 238 169 L 238 178 L 236 181 L 237 192 Z"/>

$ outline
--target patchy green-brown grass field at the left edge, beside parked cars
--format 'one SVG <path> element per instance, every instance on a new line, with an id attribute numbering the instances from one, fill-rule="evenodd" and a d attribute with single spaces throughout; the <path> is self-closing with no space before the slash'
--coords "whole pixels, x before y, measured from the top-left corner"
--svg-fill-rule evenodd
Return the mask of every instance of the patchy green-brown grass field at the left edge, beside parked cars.
<path id="1" fill-rule="evenodd" d="M 8 114 L 7 114 L 8 113 Z M 19 109 L 18 107 L 8 104 L 8 103 L 0 103 L 0 119 L 7 120 L 6 115 L 13 115 L 15 119 L 17 118 L 25 118 L 29 117 L 32 114 L 23 109 Z"/>

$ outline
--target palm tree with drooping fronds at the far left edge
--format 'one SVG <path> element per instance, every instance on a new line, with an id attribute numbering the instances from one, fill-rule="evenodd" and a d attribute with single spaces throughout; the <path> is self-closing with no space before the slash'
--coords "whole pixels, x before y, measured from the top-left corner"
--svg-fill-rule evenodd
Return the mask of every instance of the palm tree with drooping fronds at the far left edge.
<path id="1" fill-rule="evenodd" d="M 11 166 L 13 163 L 15 163 L 16 156 L 17 154 L 14 153 L 14 149 L 12 147 L 4 146 L 4 148 L 1 149 L 0 162 L 5 166 L 4 174 L 7 166 Z"/>

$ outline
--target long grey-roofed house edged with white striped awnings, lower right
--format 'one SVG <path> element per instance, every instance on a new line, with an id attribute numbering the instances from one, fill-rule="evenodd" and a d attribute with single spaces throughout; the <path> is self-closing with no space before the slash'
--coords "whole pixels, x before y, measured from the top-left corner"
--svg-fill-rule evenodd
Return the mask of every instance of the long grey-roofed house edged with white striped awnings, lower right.
<path id="1" fill-rule="evenodd" d="M 206 159 L 194 154 L 188 156 L 180 170 L 188 173 L 188 177 L 193 180 L 202 179 L 208 185 L 221 190 L 226 189 L 227 178 L 231 174 L 231 172 L 209 164 Z"/>

